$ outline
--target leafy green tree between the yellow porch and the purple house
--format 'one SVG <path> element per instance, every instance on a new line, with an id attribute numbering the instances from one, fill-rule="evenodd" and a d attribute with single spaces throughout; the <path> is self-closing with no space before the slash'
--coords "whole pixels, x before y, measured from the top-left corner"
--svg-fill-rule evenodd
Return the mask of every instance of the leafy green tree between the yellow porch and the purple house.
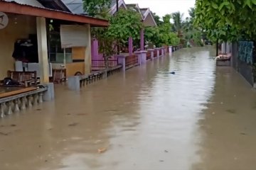
<path id="1" fill-rule="evenodd" d="M 117 53 L 117 45 L 125 43 L 132 36 L 139 40 L 142 28 L 139 13 L 132 10 L 120 9 L 114 16 L 108 14 L 111 0 L 83 0 L 84 9 L 90 16 L 105 18 L 110 21 L 107 28 L 92 28 L 93 38 L 99 41 L 99 51 L 103 54 L 105 66 L 108 67 L 110 58 Z"/>

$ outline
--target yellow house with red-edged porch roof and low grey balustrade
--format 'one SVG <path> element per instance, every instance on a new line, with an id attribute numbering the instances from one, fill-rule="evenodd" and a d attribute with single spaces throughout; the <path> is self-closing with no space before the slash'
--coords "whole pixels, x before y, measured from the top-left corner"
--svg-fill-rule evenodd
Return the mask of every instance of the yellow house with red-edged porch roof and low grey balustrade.
<path id="1" fill-rule="evenodd" d="M 7 77 L 8 70 L 36 71 L 41 84 L 48 87 L 44 100 L 54 98 L 53 84 L 49 83 L 53 60 L 66 60 L 67 74 L 73 75 L 77 70 L 90 73 L 90 28 L 108 26 L 106 20 L 71 13 L 62 1 L 47 0 L 1 0 L 0 23 L 0 79 Z M 64 50 L 63 55 L 63 48 L 69 54 Z M 42 94 L 42 90 L 33 89 L 33 95 L 28 90 L 19 88 L 16 93 L 15 88 L 8 88 L 10 101 L 6 95 L 7 99 L 0 97 L 1 117 L 6 114 L 4 111 L 14 111 L 13 106 L 18 110 L 37 103 L 36 93 Z M 6 88 L 1 87 L 0 94 L 5 93 Z M 21 98 L 22 102 L 18 102 Z"/>

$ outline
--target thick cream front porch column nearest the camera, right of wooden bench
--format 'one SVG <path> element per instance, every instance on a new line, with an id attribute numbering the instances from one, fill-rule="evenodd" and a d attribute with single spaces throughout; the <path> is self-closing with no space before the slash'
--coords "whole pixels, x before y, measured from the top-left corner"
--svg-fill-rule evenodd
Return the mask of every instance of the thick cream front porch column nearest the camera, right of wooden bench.
<path id="1" fill-rule="evenodd" d="M 47 33 L 46 33 L 46 18 L 36 18 L 36 29 L 38 38 L 38 61 L 40 72 L 39 77 L 41 83 L 49 82 L 49 63 L 48 63 L 48 48 L 47 48 Z"/>

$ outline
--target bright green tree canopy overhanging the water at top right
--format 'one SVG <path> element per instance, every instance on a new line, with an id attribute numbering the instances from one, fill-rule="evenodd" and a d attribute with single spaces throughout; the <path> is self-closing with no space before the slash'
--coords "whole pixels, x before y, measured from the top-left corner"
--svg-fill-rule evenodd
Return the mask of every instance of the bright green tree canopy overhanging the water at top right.
<path id="1" fill-rule="evenodd" d="M 195 25 L 214 40 L 255 38 L 255 0 L 197 0 Z"/>

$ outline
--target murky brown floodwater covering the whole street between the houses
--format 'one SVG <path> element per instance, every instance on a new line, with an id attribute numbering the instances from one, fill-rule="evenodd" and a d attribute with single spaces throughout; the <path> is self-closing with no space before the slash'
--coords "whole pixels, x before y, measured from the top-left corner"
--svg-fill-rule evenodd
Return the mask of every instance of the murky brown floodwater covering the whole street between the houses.
<path id="1" fill-rule="evenodd" d="M 0 120 L 0 169 L 254 170 L 256 93 L 211 55 L 180 50 L 80 93 L 56 86 L 54 102 Z"/>

